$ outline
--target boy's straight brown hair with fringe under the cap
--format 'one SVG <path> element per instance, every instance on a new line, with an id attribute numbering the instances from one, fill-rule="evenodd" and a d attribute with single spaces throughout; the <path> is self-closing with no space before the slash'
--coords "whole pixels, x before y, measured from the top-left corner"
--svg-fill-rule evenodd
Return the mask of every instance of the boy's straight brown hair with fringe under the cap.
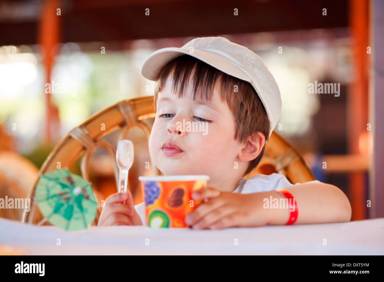
<path id="1" fill-rule="evenodd" d="M 170 74 L 172 74 L 171 91 L 174 92 L 174 89 L 178 89 L 178 92 L 176 92 L 178 93 L 178 98 L 183 96 L 184 89 L 191 76 L 194 100 L 196 96 L 200 96 L 199 98 L 203 101 L 210 101 L 214 87 L 218 83 L 220 98 L 223 102 L 227 102 L 235 118 L 234 139 L 239 140 L 241 144 L 245 144 L 248 138 L 254 138 L 254 134 L 260 131 L 265 136 L 265 142 L 268 140 L 270 128 L 268 116 L 252 84 L 223 73 L 213 66 L 187 54 L 174 58 L 161 69 L 156 79 L 154 91 L 155 110 L 158 94 Z M 235 86 L 237 86 L 238 92 L 234 92 Z M 226 91 L 222 91 L 223 89 Z M 203 93 L 205 95 L 202 95 Z M 244 175 L 247 175 L 253 168 L 257 167 L 263 157 L 264 148 L 265 145 L 260 154 L 250 161 Z"/>

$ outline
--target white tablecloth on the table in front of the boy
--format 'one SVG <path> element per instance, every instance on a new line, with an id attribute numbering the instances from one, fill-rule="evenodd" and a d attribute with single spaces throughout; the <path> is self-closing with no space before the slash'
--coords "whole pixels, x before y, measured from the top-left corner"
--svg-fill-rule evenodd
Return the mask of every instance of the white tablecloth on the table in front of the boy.
<path id="1" fill-rule="evenodd" d="M 0 244 L 33 255 L 384 255 L 384 218 L 222 230 L 91 226 L 82 231 L 0 219 Z"/>

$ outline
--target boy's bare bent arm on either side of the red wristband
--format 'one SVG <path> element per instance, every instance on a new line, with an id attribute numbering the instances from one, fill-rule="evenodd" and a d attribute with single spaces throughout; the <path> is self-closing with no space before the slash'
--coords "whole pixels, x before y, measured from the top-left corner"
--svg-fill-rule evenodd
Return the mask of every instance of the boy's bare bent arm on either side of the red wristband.
<path id="1" fill-rule="evenodd" d="M 295 224 L 348 222 L 351 220 L 351 204 L 347 196 L 336 186 L 326 183 L 303 183 L 285 188 L 294 198 L 298 209 Z M 257 193 L 264 198 L 282 198 L 277 191 Z M 280 200 L 279 200 L 280 201 Z M 268 224 L 285 224 L 289 209 L 265 209 Z"/>

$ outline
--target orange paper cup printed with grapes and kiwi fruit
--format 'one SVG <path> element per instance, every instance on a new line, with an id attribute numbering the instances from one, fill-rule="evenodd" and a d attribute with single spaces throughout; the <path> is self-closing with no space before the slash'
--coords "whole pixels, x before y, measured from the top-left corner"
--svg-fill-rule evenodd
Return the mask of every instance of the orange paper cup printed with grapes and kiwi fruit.
<path id="1" fill-rule="evenodd" d="M 186 228 L 185 216 L 202 201 L 191 194 L 207 186 L 208 175 L 139 176 L 144 195 L 146 222 L 154 228 Z"/>

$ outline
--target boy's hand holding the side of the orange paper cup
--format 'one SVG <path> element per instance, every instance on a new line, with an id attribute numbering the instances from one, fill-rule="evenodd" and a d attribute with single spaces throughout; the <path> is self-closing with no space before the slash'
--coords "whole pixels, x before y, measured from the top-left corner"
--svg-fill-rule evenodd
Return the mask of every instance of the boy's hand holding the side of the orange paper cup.
<path id="1" fill-rule="evenodd" d="M 208 199 L 185 217 L 185 223 L 193 229 L 255 227 L 268 223 L 263 199 L 257 193 L 229 193 L 206 187 L 192 193 L 192 199 Z"/>

